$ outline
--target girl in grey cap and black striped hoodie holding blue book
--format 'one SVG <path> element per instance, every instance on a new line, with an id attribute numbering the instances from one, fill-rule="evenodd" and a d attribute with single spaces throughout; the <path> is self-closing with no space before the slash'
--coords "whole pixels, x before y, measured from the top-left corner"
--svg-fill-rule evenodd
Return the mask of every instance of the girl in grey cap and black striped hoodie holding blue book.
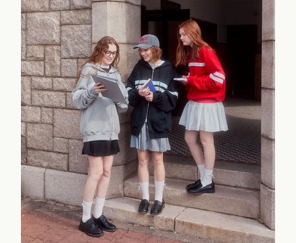
<path id="1" fill-rule="evenodd" d="M 147 213 L 149 207 L 149 151 L 152 151 L 154 164 L 155 201 L 151 215 L 158 215 L 164 208 L 162 192 L 165 180 L 163 152 L 170 150 L 168 132 L 171 131 L 171 111 L 175 108 L 178 92 L 173 78 L 177 73 L 169 61 L 160 59 L 162 50 L 154 35 L 142 36 L 139 44 L 140 60 L 134 66 L 127 80 L 126 90 L 129 102 L 134 107 L 131 113 L 130 147 L 138 152 L 138 177 L 142 191 L 139 213 Z M 151 79 L 155 92 L 142 85 Z"/>

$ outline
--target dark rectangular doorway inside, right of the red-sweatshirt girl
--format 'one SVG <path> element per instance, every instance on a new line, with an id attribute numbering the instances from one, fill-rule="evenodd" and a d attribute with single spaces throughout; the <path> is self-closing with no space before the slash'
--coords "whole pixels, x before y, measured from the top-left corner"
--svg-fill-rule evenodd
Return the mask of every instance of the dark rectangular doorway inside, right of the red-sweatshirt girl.
<path id="1" fill-rule="evenodd" d="M 226 96 L 254 99 L 257 25 L 229 25 L 226 31 Z"/>

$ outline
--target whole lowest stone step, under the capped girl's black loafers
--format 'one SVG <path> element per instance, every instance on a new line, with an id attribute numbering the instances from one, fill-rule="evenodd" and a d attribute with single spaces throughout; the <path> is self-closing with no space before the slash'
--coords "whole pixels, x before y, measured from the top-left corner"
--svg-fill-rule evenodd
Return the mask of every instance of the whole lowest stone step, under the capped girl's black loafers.
<path id="1" fill-rule="evenodd" d="M 139 199 L 128 197 L 107 199 L 103 213 L 108 219 L 223 243 L 275 242 L 274 231 L 254 219 L 167 203 L 162 214 L 151 216 L 138 213 L 139 203 Z"/>

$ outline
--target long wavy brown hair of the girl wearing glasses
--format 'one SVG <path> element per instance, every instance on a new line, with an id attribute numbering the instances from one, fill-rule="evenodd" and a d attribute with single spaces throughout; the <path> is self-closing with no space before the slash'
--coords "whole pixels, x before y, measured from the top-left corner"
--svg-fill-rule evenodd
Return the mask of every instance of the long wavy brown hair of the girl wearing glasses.
<path id="1" fill-rule="evenodd" d="M 98 43 L 96 44 L 95 48 L 92 51 L 92 54 L 90 55 L 89 59 L 84 62 L 84 64 L 82 64 L 82 66 L 80 67 L 80 70 L 78 72 L 77 78 L 76 78 L 76 83 L 77 84 L 80 75 L 81 75 L 81 70 L 83 68 L 83 66 L 85 65 L 85 63 L 98 63 L 99 65 L 101 65 L 101 60 L 105 55 L 104 51 L 107 51 L 109 49 L 109 44 L 114 44 L 117 48 L 117 55 L 114 58 L 113 62 L 111 63 L 111 66 L 115 67 L 116 69 L 118 69 L 118 63 L 120 61 L 120 56 L 119 56 L 119 45 L 117 44 L 117 42 L 110 36 L 104 36 L 101 40 L 98 41 Z"/>

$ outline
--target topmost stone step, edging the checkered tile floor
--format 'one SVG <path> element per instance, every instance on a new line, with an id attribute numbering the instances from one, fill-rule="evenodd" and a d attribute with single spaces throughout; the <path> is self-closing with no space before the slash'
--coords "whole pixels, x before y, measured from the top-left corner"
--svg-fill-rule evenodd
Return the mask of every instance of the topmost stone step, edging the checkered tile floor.
<path id="1" fill-rule="evenodd" d="M 193 158 L 164 154 L 163 162 L 167 178 L 188 181 L 196 181 L 199 178 Z M 150 160 L 148 168 L 149 174 L 153 175 L 154 166 L 152 160 Z M 260 190 L 260 165 L 216 161 L 213 174 L 215 184 Z"/>

